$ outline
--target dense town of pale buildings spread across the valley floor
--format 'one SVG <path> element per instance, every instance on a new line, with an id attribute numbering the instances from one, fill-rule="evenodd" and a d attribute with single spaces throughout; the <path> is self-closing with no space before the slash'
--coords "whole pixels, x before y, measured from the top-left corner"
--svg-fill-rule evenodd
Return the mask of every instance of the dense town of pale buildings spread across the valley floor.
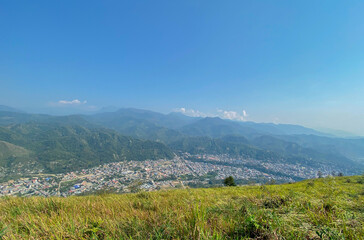
<path id="1" fill-rule="evenodd" d="M 268 163 L 228 155 L 181 153 L 172 160 L 123 161 L 66 174 L 36 174 L 0 184 L 0 196 L 70 196 L 97 192 L 138 192 L 167 188 L 221 186 L 232 176 L 238 184 L 294 182 L 332 174 L 322 166 Z"/>

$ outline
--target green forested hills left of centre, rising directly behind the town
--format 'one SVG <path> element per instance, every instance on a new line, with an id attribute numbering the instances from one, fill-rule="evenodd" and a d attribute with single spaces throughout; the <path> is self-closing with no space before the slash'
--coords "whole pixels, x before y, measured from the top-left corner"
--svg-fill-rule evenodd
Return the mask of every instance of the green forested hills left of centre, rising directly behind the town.
<path id="1" fill-rule="evenodd" d="M 173 152 L 161 143 L 107 129 L 59 123 L 0 127 L 0 140 L 0 166 L 8 169 L 7 177 L 75 171 L 113 161 L 173 157 Z"/>

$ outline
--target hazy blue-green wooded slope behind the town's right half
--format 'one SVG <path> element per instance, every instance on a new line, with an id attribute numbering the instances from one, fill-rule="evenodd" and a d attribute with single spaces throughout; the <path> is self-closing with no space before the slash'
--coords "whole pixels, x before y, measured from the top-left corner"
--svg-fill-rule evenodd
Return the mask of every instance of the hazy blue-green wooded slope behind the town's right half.
<path id="1" fill-rule="evenodd" d="M 268 139 L 268 140 L 265 140 Z M 175 151 L 191 154 L 228 154 L 230 157 L 260 160 L 269 163 L 299 164 L 301 166 L 328 166 L 355 174 L 361 173 L 364 166 L 342 155 L 324 154 L 313 149 L 305 149 L 297 144 L 275 140 L 271 137 L 259 138 L 260 144 L 247 142 L 245 138 L 226 136 L 223 138 L 184 137 L 170 143 Z"/>

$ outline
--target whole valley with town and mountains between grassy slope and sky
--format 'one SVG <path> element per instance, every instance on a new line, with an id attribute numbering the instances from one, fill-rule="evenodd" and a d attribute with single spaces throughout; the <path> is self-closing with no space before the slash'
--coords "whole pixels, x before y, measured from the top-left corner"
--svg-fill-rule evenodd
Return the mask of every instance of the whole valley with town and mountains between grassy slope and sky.
<path id="1" fill-rule="evenodd" d="M 362 139 L 302 126 L 140 109 L 0 116 L 1 196 L 215 187 L 229 176 L 239 185 L 287 183 L 364 171 Z"/>

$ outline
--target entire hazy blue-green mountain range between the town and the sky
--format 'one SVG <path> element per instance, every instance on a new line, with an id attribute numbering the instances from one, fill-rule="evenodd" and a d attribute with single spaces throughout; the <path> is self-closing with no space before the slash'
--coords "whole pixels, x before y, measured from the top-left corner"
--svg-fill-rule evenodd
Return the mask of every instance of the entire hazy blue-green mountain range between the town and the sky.
<path id="1" fill-rule="evenodd" d="M 0 107 L 1 177 L 62 173 L 175 154 L 228 154 L 267 162 L 322 164 L 346 174 L 364 169 L 364 139 L 298 125 L 237 122 L 124 108 L 51 116 Z"/>

